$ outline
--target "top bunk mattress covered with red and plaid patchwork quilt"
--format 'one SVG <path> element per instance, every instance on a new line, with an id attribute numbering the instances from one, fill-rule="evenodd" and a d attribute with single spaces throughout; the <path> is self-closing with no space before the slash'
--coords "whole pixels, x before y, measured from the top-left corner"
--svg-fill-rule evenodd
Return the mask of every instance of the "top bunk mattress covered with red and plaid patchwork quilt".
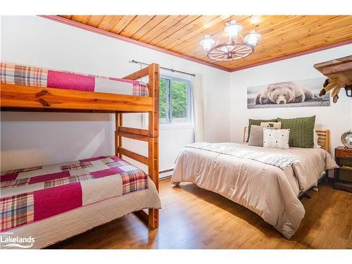
<path id="1" fill-rule="evenodd" d="M 146 84 L 136 80 L 71 73 L 63 70 L 49 70 L 18 63 L 1 62 L 0 82 L 32 87 L 149 96 Z"/>

